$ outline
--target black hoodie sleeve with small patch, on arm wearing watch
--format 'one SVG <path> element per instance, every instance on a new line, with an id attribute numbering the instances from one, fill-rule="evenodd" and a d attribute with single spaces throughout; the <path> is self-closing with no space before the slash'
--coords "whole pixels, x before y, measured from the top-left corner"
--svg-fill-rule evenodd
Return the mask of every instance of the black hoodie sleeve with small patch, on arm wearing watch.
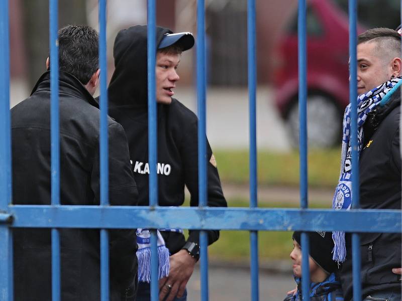
<path id="1" fill-rule="evenodd" d="M 197 122 L 190 125 L 182 141 L 182 160 L 184 169 L 184 183 L 190 193 L 190 206 L 198 206 L 198 143 Z M 222 192 L 218 169 L 216 168 L 210 143 L 207 139 L 207 204 L 210 207 L 227 207 Z M 208 244 L 219 238 L 219 230 L 208 232 Z M 190 230 L 187 241 L 199 243 L 199 231 Z"/>

